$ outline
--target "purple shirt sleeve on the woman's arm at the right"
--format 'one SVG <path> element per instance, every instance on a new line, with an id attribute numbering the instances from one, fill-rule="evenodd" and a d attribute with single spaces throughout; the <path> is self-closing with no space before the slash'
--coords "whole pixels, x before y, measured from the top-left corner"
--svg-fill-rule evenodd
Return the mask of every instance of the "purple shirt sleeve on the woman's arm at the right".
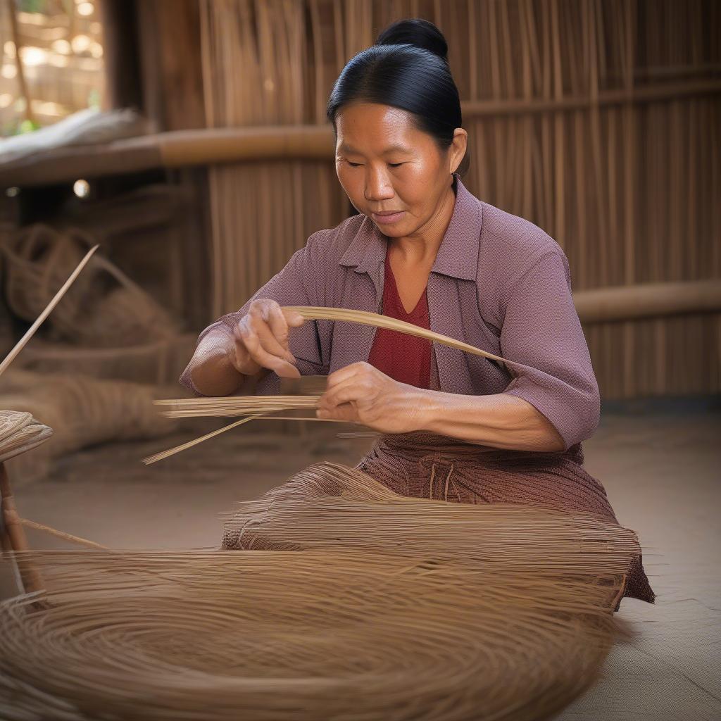
<path id="1" fill-rule="evenodd" d="M 573 305 L 568 261 L 555 244 L 510 288 L 500 345 L 516 376 L 504 392 L 547 417 L 565 450 L 590 438 L 598 426 L 598 384 Z"/>

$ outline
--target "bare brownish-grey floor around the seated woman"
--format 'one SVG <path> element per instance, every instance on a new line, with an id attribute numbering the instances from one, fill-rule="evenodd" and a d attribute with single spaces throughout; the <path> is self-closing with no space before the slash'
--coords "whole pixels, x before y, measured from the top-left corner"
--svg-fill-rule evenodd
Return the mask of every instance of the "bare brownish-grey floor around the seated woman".
<path id="1" fill-rule="evenodd" d="M 56 464 L 47 479 L 15 479 L 17 505 L 26 518 L 109 547 L 216 547 L 218 513 L 234 501 L 257 497 L 314 461 L 352 463 L 370 443 L 338 438 L 337 427 L 322 423 L 290 437 L 274 430 L 280 422 L 264 423 L 262 433 L 238 428 L 149 467 L 139 459 L 187 433 L 92 448 Z M 718 402 L 611 407 L 585 454 L 619 521 L 639 535 L 658 599 L 654 606 L 622 601 L 616 619 L 632 640 L 616 644 L 603 678 L 558 718 L 721 719 Z M 30 541 L 58 547 L 35 532 Z M 0 579 L 5 591 L 8 581 Z"/>

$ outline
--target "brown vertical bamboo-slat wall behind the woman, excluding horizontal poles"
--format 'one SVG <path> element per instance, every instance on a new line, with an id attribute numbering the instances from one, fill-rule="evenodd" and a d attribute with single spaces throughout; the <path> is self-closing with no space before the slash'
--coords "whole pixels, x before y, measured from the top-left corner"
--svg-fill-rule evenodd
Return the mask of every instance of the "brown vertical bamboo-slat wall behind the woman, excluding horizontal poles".
<path id="1" fill-rule="evenodd" d="M 202 0 L 210 127 L 323 123 L 399 17 L 445 33 L 475 195 L 564 247 L 575 291 L 721 278 L 721 6 L 712 0 Z M 348 203 L 329 162 L 211 169 L 213 313 Z M 721 319 L 585 328 L 603 396 L 721 390 Z"/>

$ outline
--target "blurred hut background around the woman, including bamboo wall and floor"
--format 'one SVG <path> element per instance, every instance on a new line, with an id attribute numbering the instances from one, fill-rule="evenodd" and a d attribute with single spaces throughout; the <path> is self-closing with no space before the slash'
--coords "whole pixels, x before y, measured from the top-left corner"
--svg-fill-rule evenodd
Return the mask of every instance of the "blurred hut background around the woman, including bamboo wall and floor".
<path id="1" fill-rule="evenodd" d="M 198 332 L 353 212 L 327 97 L 402 17 L 448 40 L 466 187 L 565 249 L 603 397 L 586 464 L 658 594 L 624 600 L 641 640 L 563 719 L 719 718 L 717 0 L 0 0 L 0 358 L 100 245 L 0 378 L 0 415 L 53 428 L 6 463 L 17 505 L 110 547 L 207 547 L 234 500 L 366 450 L 259 421 L 140 462 L 223 425 L 150 403 L 185 395 Z"/>

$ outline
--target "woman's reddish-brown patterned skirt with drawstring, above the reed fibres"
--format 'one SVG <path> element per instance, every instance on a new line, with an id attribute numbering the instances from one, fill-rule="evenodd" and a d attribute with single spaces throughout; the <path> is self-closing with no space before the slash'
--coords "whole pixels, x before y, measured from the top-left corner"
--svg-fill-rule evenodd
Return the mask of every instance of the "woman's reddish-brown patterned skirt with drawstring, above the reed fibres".
<path id="1" fill-rule="evenodd" d="M 381 436 L 356 467 L 399 495 L 453 503 L 523 503 L 593 513 L 619 523 L 603 485 L 583 467 L 580 443 L 563 453 L 529 453 L 433 433 L 401 433 Z M 626 596 L 655 601 L 642 554 L 629 567 L 622 598 Z"/>

